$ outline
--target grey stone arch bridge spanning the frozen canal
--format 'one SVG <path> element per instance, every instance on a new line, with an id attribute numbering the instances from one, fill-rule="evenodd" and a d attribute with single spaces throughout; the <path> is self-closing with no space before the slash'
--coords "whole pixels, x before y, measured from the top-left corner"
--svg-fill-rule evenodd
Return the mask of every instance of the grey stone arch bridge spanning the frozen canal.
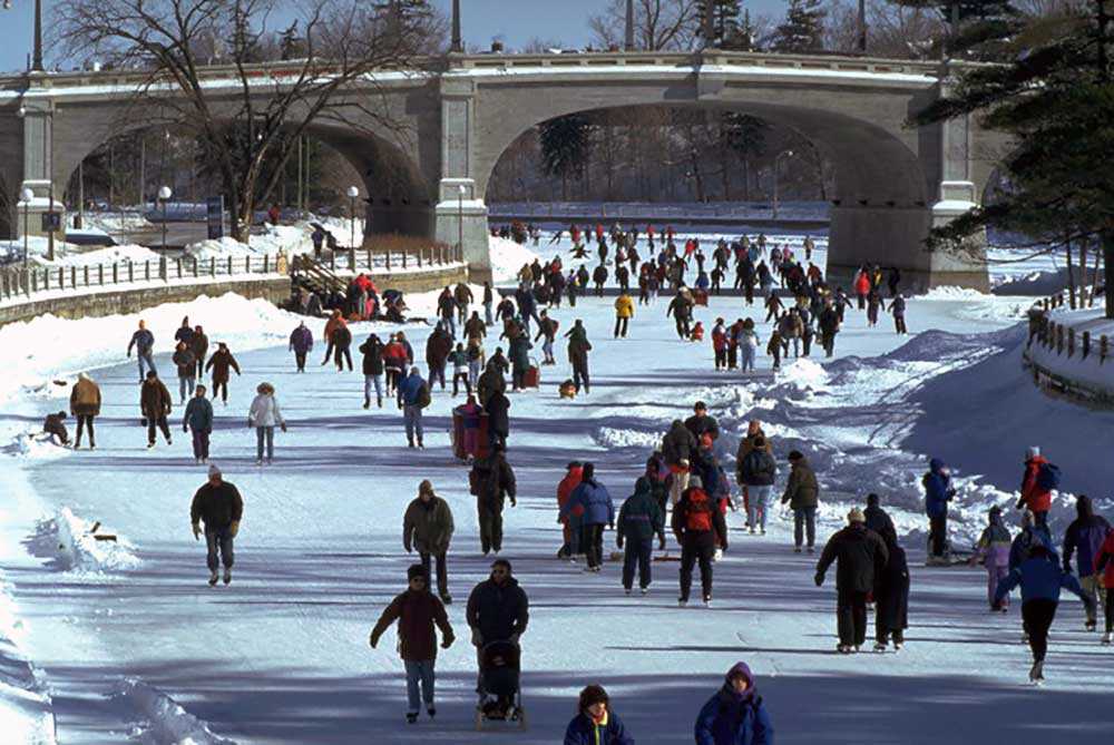
<path id="1" fill-rule="evenodd" d="M 792 127 L 830 159 L 833 276 L 870 262 L 898 266 L 919 286 L 986 285 L 985 266 L 927 253 L 921 244 L 930 226 L 981 202 L 1007 146 L 974 119 L 908 126 L 947 90 L 954 71 L 947 63 L 719 50 L 450 53 L 438 62 L 437 71 L 383 72 L 346 89 L 380 112 L 377 120 L 313 128 L 363 175 L 368 234 L 455 245 L 462 233 L 465 256 L 482 276 L 490 267 L 488 180 L 519 135 L 578 111 L 700 107 Z M 281 86 L 284 69 L 257 69 L 260 96 Z M 229 100 L 236 96 L 228 68 L 206 69 L 204 81 L 214 100 L 222 88 Z M 51 182 L 60 198 L 99 145 L 150 126 L 131 105 L 138 85 L 127 71 L 0 79 L 0 188 L 14 194 L 30 186 L 31 210 L 45 210 Z"/>

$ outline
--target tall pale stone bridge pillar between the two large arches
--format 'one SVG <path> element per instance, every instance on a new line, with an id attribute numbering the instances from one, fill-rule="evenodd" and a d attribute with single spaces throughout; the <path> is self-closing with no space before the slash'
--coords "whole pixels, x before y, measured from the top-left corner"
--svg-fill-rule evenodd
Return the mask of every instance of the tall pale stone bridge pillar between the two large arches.
<path id="1" fill-rule="evenodd" d="M 441 80 L 441 182 L 434 210 L 434 235 L 450 246 L 462 242 L 473 282 L 491 278 L 487 205 L 476 192 L 472 145 L 476 84 Z"/>

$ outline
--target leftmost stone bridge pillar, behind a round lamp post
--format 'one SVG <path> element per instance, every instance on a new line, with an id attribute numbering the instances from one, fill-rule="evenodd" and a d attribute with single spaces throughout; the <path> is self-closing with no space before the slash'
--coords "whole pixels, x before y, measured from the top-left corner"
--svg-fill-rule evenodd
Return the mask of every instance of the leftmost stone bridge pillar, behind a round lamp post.
<path id="1" fill-rule="evenodd" d="M 33 73 L 32 73 L 33 76 Z M 28 92 L 36 91 L 32 87 Z M 28 235 L 45 235 L 42 231 L 42 215 L 50 212 L 51 207 L 61 215 L 61 229 L 55 232 L 58 239 L 65 238 L 66 205 L 60 200 L 61 188 L 55 184 L 53 204 L 51 205 L 51 177 L 53 170 L 53 101 L 43 97 L 31 97 L 25 94 L 20 104 L 19 116 L 23 119 L 23 182 L 19 187 L 20 195 L 23 189 L 31 189 L 35 198 L 28 205 L 22 200 L 17 203 L 19 219 L 17 220 L 16 236 L 23 236 L 25 210 L 28 219 Z"/>

